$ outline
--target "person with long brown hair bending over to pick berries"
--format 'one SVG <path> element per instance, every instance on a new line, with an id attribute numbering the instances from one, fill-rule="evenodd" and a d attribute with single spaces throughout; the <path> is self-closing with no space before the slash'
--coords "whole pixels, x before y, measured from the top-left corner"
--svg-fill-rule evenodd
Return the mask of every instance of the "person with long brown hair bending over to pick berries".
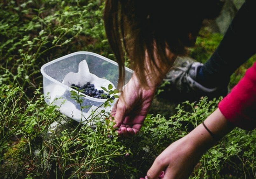
<path id="1" fill-rule="evenodd" d="M 189 91 L 183 90 L 185 87 L 198 96 L 221 94 L 219 91 L 227 87 L 232 72 L 255 53 L 255 45 L 251 44 L 256 38 L 251 23 L 255 20 L 255 2 L 248 0 L 243 4 L 205 64 L 194 62 L 186 70 L 173 72 L 170 68 L 176 57 L 187 54 L 187 47 L 195 44 L 202 21 L 217 17 L 223 2 L 107 0 L 104 25 L 119 64 L 118 88 L 122 90 L 111 111 L 118 134 L 129 137 L 139 132 L 163 79 L 170 79 L 173 87 L 183 93 Z M 230 45 L 234 52 L 228 50 Z M 134 74 L 122 89 L 125 55 Z M 189 177 L 203 153 L 235 126 L 255 128 L 253 109 L 256 109 L 256 65 L 248 69 L 216 111 L 156 158 L 147 178 L 157 178 L 164 169 L 164 178 Z M 176 150 L 180 146 L 182 150 Z"/>

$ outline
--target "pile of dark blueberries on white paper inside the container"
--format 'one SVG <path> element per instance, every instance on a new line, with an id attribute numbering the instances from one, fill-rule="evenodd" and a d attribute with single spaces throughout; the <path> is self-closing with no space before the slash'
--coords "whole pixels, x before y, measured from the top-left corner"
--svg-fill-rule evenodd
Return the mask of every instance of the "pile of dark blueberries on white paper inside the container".
<path id="1" fill-rule="evenodd" d="M 110 94 L 104 93 L 103 90 L 97 90 L 96 88 L 94 88 L 94 84 L 87 82 L 86 84 L 84 84 L 83 86 L 78 86 L 75 84 L 72 84 L 71 87 L 73 89 L 78 88 L 78 90 L 82 90 L 82 93 L 91 96 L 93 98 L 98 98 L 98 99 L 107 99 L 110 98 Z M 76 88 L 74 88 L 76 87 Z M 107 98 L 105 96 L 101 96 L 101 94 L 105 94 L 107 96 Z M 115 99 L 114 96 L 111 97 L 112 100 Z"/>

